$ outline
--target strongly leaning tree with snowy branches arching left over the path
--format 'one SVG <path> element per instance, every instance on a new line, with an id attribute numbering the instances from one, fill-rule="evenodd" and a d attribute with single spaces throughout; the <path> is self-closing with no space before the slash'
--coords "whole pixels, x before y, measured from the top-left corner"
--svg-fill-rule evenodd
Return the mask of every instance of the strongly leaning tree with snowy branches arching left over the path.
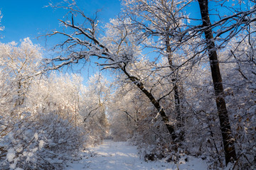
<path id="1" fill-rule="evenodd" d="M 53 7 L 58 8 L 58 6 Z M 45 62 L 48 65 L 48 69 L 59 69 L 67 64 L 79 62 L 82 59 L 90 60 L 92 57 L 97 57 L 98 60 L 105 60 L 105 62 L 102 62 L 102 64 L 99 65 L 103 67 L 103 69 L 121 71 L 132 84 L 137 86 L 137 88 L 146 95 L 158 114 L 161 115 L 171 138 L 176 140 L 177 136 L 174 130 L 174 125 L 171 125 L 169 116 L 166 114 L 166 111 L 164 111 L 160 101 L 146 88 L 143 79 L 131 72 L 130 64 L 135 61 L 134 57 L 138 55 L 138 51 L 134 50 L 136 45 L 132 42 L 133 37 L 131 35 L 134 35 L 132 29 L 127 28 L 124 24 L 124 22 L 129 21 L 124 20 L 121 23 L 117 23 L 119 25 L 114 26 L 113 28 L 115 28 L 115 30 L 112 30 L 113 33 L 115 33 L 114 37 L 117 38 L 117 40 L 110 38 L 106 44 L 97 36 L 97 18 L 92 19 L 87 17 L 78 6 L 69 6 L 65 8 L 70 9 L 70 21 L 60 20 L 60 22 L 65 27 L 71 28 L 73 32 L 65 33 L 65 30 L 63 32 L 55 31 L 49 36 L 57 34 L 63 35 L 66 38 L 65 42 L 56 45 L 56 47 L 67 45 L 65 52 L 68 52 L 68 55 L 60 55 L 54 59 L 46 59 Z M 75 15 L 82 16 L 85 19 L 85 22 L 81 25 L 75 24 Z M 87 28 L 88 25 L 90 28 Z"/>

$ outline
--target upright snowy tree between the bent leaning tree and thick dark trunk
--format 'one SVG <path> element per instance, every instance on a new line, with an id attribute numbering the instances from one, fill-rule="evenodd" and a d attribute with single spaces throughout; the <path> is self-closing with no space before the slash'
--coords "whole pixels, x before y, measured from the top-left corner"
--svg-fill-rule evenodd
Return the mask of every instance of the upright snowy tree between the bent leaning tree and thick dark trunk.
<path id="1" fill-rule="evenodd" d="M 171 45 L 181 33 L 180 25 L 185 18 L 181 10 L 185 8 L 190 1 L 166 1 L 166 0 L 143 0 L 133 1 L 124 0 L 124 15 L 131 18 L 132 24 L 137 26 L 137 30 L 144 33 L 144 36 L 151 38 L 149 43 L 142 42 L 150 51 L 160 53 L 160 58 L 168 60 L 169 74 L 172 87 L 169 91 L 174 95 L 174 106 L 176 113 L 176 124 L 180 128 L 182 123 L 181 115 L 181 77 L 176 70 L 176 58 L 174 53 L 178 47 Z M 157 40 L 157 42 L 154 42 Z M 144 41 L 144 39 L 142 39 Z M 180 59 L 179 59 L 180 60 Z"/>

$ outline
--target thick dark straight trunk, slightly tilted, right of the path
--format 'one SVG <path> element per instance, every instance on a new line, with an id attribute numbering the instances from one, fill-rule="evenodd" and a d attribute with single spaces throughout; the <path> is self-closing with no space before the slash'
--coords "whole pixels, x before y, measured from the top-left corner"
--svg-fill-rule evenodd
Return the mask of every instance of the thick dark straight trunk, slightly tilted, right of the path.
<path id="1" fill-rule="evenodd" d="M 216 52 L 215 42 L 213 40 L 213 32 L 210 28 L 210 17 L 208 12 L 208 0 L 198 0 L 201 17 L 203 20 L 203 27 L 206 29 L 204 33 L 206 35 L 206 45 L 208 49 L 208 55 L 210 60 L 210 70 L 213 78 L 213 86 L 216 96 L 216 105 L 218 108 L 218 118 L 220 119 L 220 130 L 223 137 L 223 145 L 225 152 L 225 163 L 226 165 L 233 158 L 237 159 L 235 153 L 235 142 L 233 140 L 232 131 L 230 128 L 230 120 L 228 118 L 228 111 L 225 104 L 223 84 L 220 74 L 220 67 L 218 62 L 218 56 Z"/>

